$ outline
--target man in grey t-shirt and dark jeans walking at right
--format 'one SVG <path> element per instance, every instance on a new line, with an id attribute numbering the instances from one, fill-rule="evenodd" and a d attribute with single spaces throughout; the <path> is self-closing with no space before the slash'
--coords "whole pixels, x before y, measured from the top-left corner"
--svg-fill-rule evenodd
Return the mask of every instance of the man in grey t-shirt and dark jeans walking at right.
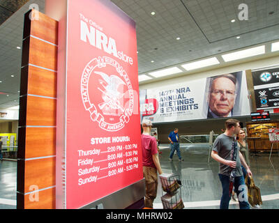
<path id="1" fill-rule="evenodd" d="M 252 176 L 250 168 L 246 164 L 243 155 L 239 151 L 239 146 L 236 146 L 236 161 L 232 161 L 232 143 L 234 141 L 234 134 L 239 134 L 240 125 L 236 119 L 228 119 L 225 121 L 225 132 L 220 134 L 213 144 L 211 157 L 213 160 L 219 162 L 219 178 L 223 188 L 223 194 L 220 200 L 220 209 L 229 208 L 229 200 L 231 194 L 229 194 L 229 174 L 232 169 L 235 169 L 234 188 L 236 194 L 239 197 L 239 208 L 249 209 L 248 193 L 246 184 L 243 178 L 243 172 L 241 170 L 241 164 L 245 167 L 247 174 Z"/>

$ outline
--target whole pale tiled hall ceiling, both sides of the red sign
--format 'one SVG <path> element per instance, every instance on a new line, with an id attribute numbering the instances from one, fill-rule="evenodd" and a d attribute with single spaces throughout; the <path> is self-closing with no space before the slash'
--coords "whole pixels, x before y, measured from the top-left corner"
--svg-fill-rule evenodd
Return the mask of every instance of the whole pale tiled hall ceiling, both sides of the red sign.
<path id="1" fill-rule="evenodd" d="M 139 75 L 260 43 L 266 43 L 264 56 L 272 56 L 270 45 L 279 39 L 278 0 L 111 1 L 136 22 Z M 0 26 L 0 92 L 6 93 L 0 93 L 0 108 L 18 105 L 22 52 L 16 47 L 22 46 L 24 13 L 31 3 L 44 13 L 44 2 L 30 0 Z M 241 3 L 248 20 L 238 18 Z"/>

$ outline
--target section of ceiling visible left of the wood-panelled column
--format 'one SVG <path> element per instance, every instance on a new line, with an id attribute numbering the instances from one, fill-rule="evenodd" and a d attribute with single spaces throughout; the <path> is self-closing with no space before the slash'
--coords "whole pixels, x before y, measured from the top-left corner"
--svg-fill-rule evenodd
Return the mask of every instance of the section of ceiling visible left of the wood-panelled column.
<path id="1" fill-rule="evenodd" d="M 17 47 L 22 47 L 24 13 L 31 3 L 44 12 L 44 0 L 30 0 L 0 26 L 0 108 L 19 105 L 22 50 Z"/>

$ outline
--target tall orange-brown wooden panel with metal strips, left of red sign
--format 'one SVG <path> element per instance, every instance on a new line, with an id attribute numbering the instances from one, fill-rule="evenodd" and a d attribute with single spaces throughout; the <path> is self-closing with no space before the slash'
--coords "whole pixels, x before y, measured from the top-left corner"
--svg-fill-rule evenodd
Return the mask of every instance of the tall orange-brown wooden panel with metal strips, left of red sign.
<path id="1" fill-rule="evenodd" d="M 17 154 L 20 209 L 55 208 L 57 39 L 58 22 L 35 10 L 25 14 Z"/>

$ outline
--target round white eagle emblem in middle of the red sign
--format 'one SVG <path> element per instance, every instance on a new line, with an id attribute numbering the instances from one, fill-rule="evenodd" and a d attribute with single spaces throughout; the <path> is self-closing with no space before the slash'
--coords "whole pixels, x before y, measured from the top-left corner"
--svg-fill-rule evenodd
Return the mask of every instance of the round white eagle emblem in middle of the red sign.
<path id="1" fill-rule="evenodd" d="M 90 61 L 81 79 L 82 102 L 91 121 L 109 132 L 121 130 L 133 114 L 132 84 L 123 67 L 103 56 Z"/>

